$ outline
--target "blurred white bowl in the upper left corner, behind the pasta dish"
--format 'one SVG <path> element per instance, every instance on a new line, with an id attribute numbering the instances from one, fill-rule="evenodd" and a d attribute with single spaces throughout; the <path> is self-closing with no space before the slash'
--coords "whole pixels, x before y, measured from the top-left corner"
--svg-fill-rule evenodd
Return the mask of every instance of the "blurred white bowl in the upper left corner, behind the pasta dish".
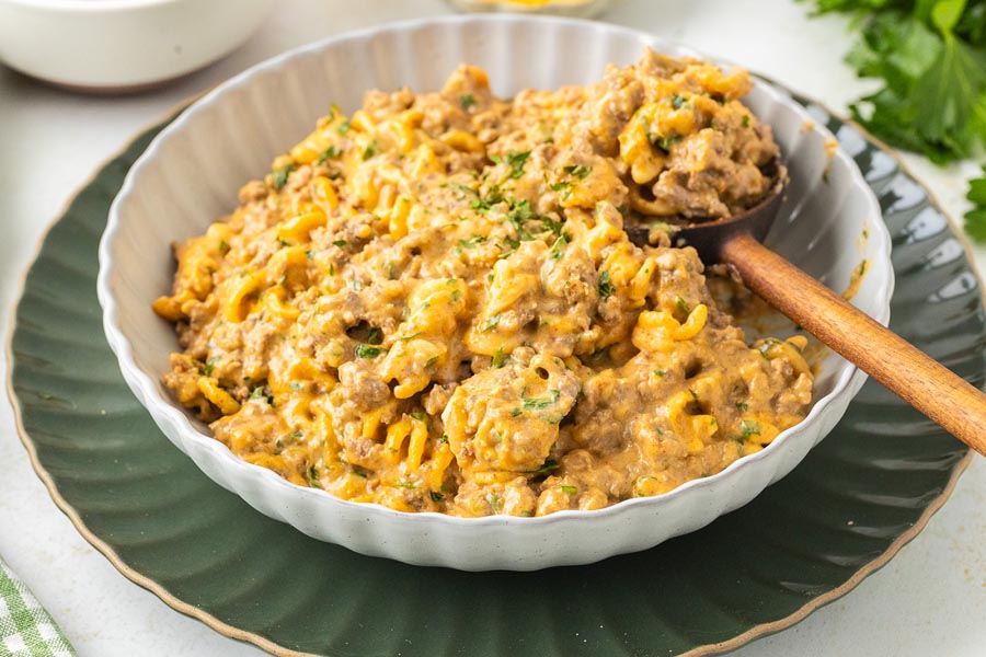
<path id="1" fill-rule="evenodd" d="M 0 0 L 0 60 L 64 87 L 150 87 L 219 59 L 273 0 Z"/>

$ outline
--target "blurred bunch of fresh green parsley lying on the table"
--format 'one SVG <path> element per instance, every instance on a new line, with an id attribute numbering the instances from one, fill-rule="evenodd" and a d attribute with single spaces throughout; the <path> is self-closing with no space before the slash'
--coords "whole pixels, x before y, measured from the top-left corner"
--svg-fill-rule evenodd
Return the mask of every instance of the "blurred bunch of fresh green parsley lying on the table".
<path id="1" fill-rule="evenodd" d="M 816 13 L 848 12 L 860 25 L 846 61 L 881 87 L 852 117 L 892 146 L 943 164 L 986 146 L 986 11 L 982 1 L 813 0 Z M 976 185 L 970 198 L 981 194 Z M 982 187 L 981 187 L 982 188 Z M 986 241 L 986 204 L 966 231 Z"/>

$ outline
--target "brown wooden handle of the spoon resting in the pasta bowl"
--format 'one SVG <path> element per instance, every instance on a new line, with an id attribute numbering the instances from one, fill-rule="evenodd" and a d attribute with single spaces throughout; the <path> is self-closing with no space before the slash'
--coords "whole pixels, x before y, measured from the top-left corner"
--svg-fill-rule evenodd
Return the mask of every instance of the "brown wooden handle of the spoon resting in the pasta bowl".
<path id="1" fill-rule="evenodd" d="M 905 402 L 986 456 L 986 394 L 884 328 L 749 235 L 729 238 L 720 260 L 744 284 Z"/>

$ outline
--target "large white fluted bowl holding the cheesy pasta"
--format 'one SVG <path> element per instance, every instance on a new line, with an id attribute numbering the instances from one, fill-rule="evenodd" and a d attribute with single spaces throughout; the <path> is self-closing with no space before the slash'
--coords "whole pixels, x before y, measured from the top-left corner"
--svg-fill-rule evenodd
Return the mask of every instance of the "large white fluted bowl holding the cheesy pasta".
<path id="1" fill-rule="evenodd" d="M 642 33 L 561 19 L 412 22 L 285 54 L 198 101 L 135 164 L 100 246 L 104 326 L 136 396 L 209 477 L 260 511 L 311 537 L 412 564 L 529 570 L 589 563 L 693 531 L 753 499 L 835 426 L 862 384 L 862 372 L 828 357 L 804 422 L 763 452 L 669 494 L 596 511 L 480 519 L 401 514 L 289 484 L 233 457 L 160 383 L 175 338 L 149 301 L 170 285 L 167 244 L 200 233 L 234 207 L 240 184 L 265 172 L 331 102 L 351 111 L 367 89 L 437 89 L 461 61 L 485 68 L 502 95 L 525 87 L 584 84 L 609 62 L 634 61 L 645 45 L 674 56 L 696 55 Z M 837 290 L 865 260 L 869 272 L 853 303 L 886 323 L 893 291 L 890 239 L 856 164 L 832 148 L 832 135 L 816 128 L 786 93 L 758 82 L 746 102 L 772 125 L 791 173 L 788 200 L 767 243 Z M 205 171 L 210 175 L 202 175 Z"/>

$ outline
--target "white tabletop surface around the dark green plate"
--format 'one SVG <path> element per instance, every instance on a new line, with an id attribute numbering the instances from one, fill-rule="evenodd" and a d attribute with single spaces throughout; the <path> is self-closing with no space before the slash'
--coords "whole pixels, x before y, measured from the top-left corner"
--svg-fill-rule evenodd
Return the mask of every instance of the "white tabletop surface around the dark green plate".
<path id="1" fill-rule="evenodd" d="M 392 20 L 448 12 L 442 0 L 280 0 L 263 31 L 218 64 L 135 96 L 74 95 L 0 67 L 0 320 L 45 228 L 101 163 L 176 103 L 294 46 Z M 763 16 L 771 16 L 764 20 Z M 867 91 L 841 62 L 840 18 L 809 19 L 792 0 L 624 0 L 605 20 L 741 61 L 844 111 Z M 953 218 L 971 162 L 908 163 Z M 973 249 L 986 270 L 986 249 Z M 0 377 L 8 362 L 0 356 Z M 976 458 L 924 532 L 846 597 L 735 655 L 986 655 L 986 462 Z M 0 401 L 0 555 L 83 657 L 261 655 L 172 610 L 123 577 L 76 532 L 34 474 L 9 402 Z"/>

